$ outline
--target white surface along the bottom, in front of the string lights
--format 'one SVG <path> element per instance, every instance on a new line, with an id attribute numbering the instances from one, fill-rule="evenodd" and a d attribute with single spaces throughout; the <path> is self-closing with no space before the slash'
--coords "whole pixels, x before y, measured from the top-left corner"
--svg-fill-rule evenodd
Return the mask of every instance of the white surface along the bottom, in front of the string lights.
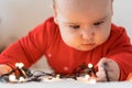
<path id="1" fill-rule="evenodd" d="M 1 88 L 132 88 L 131 81 L 84 84 L 76 80 L 0 84 Z"/>

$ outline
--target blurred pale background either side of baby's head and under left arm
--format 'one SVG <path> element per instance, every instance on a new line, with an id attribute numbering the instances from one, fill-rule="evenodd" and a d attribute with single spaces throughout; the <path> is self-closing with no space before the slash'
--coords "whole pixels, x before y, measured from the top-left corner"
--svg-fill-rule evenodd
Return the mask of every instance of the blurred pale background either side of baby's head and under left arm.
<path id="1" fill-rule="evenodd" d="M 131 0 L 114 0 L 112 22 L 124 26 L 132 38 L 131 3 Z M 51 4 L 52 0 L 0 0 L 0 51 L 51 16 Z M 48 65 L 41 59 L 32 68 L 44 69 Z"/>

